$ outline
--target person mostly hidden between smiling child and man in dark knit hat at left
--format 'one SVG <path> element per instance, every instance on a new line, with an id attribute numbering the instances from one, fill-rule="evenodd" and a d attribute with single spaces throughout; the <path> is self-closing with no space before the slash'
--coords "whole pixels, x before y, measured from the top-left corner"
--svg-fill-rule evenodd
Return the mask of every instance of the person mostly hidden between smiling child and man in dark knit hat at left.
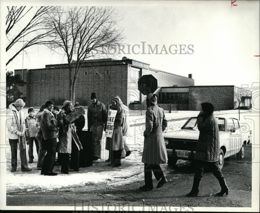
<path id="1" fill-rule="evenodd" d="M 40 110 L 34 114 L 34 117 L 37 118 L 37 130 L 35 133 L 35 138 L 38 141 L 39 144 L 39 152 L 38 152 L 38 162 L 37 162 L 37 170 L 42 170 L 44 158 L 46 155 L 46 144 L 43 143 L 43 136 L 42 136 L 42 130 L 41 130 L 41 117 L 43 114 L 43 110 L 45 109 L 45 104 L 43 104 L 40 108 Z M 43 175 L 43 171 L 41 172 Z"/>

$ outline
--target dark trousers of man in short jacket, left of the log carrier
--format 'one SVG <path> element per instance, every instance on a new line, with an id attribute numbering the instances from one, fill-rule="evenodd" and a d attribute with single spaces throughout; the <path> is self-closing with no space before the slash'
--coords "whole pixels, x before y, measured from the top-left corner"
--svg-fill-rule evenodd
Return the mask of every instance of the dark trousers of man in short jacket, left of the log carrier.
<path id="1" fill-rule="evenodd" d="M 46 145 L 47 154 L 44 158 L 42 169 L 44 173 L 51 173 L 54 169 L 56 148 L 57 148 L 57 138 L 46 139 L 43 141 Z"/>

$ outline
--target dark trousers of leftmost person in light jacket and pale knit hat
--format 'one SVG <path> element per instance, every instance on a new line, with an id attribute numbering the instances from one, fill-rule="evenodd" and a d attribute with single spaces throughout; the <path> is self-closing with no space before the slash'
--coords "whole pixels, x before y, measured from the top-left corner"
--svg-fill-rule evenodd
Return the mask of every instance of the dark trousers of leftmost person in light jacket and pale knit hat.
<path id="1" fill-rule="evenodd" d="M 11 147 L 11 166 L 12 166 L 12 171 L 16 171 L 17 169 L 17 149 L 18 149 L 18 144 L 19 144 L 19 149 L 20 149 L 20 159 L 21 159 L 21 169 L 28 169 L 27 165 L 27 157 L 26 157 L 26 149 L 22 148 L 23 142 L 19 143 L 19 139 L 9 139 L 9 144 Z M 25 146 L 24 146 L 25 147 Z"/>

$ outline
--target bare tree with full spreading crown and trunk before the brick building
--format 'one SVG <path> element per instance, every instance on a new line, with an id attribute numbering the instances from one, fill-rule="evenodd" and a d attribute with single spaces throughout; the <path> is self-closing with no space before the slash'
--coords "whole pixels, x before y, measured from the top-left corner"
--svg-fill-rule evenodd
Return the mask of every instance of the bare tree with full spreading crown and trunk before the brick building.
<path id="1" fill-rule="evenodd" d="M 74 102 L 76 80 L 84 59 L 107 53 L 104 47 L 120 43 L 122 31 L 116 28 L 119 19 L 114 8 L 96 6 L 56 7 L 50 17 L 50 28 L 61 39 L 50 47 L 54 51 L 61 49 L 67 57 L 69 100 Z"/>

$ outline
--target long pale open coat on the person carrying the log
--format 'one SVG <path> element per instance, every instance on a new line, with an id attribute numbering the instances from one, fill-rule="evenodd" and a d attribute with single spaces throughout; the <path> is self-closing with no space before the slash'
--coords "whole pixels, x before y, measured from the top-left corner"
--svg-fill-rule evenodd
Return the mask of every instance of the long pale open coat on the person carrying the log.
<path id="1" fill-rule="evenodd" d="M 70 123 L 68 125 L 63 124 L 64 117 L 68 114 L 68 112 L 62 108 L 58 115 L 58 126 L 59 130 L 59 142 L 57 144 L 57 152 L 59 153 L 71 153 L 72 146 L 72 138 L 79 150 L 82 149 L 82 145 L 79 141 L 79 138 L 76 134 L 76 128 L 74 123 Z"/>

